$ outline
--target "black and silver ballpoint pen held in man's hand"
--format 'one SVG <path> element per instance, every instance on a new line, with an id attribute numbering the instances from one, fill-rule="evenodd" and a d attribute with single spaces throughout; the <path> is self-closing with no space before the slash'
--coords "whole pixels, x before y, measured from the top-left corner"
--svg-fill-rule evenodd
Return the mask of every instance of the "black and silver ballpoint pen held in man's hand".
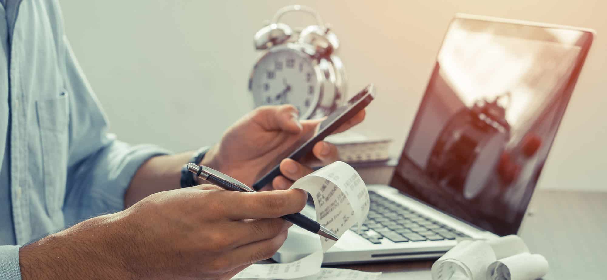
<path id="1" fill-rule="evenodd" d="M 193 163 L 188 164 L 188 170 L 194 173 L 198 178 L 203 179 L 205 181 L 211 182 L 225 190 L 233 190 L 235 192 L 255 192 L 252 188 L 249 188 L 247 185 L 242 182 L 234 179 L 228 175 L 225 175 L 217 170 L 206 166 L 198 166 Z M 302 213 L 294 213 L 282 216 L 283 218 L 293 224 L 299 225 L 299 227 L 304 228 L 305 230 L 310 231 L 311 233 L 316 233 L 322 237 L 337 241 L 337 236 L 334 235 L 330 230 L 323 227 L 321 224 L 317 223 L 313 219 L 308 218 Z"/>

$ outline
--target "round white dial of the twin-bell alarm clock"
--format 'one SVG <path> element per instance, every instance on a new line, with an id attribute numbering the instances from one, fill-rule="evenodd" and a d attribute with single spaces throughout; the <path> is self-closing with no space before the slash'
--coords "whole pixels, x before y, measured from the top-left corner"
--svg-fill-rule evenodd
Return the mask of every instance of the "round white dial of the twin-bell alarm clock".
<path id="1" fill-rule="evenodd" d="M 319 102 L 319 71 L 305 53 L 291 48 L 271 50 L 253 69 L 249 90 L 256 106 L 293 104 L 308 118 Z"/>

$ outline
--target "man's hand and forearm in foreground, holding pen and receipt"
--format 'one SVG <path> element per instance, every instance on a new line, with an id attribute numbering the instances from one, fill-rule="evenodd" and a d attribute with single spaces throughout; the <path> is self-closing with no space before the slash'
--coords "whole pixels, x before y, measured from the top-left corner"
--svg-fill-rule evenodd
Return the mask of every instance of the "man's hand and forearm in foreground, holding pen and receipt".
<path id="1" fill-rule="evenodd" d="M 155 193 L 21 247 L 22 279 L 229 279 L 274 255 L 291 226 L 279 217 L 306 198 L 214 185 Z"/>

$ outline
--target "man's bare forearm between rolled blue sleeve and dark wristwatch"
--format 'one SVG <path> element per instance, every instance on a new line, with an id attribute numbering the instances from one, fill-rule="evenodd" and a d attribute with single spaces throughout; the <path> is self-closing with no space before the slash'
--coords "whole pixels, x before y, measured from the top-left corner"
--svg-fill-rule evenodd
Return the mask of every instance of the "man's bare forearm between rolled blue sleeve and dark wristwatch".
<path id="1" fill-rule="evenodd" d="M 131 179 L 129 188 L 124 194 L 124 208 L 131 207 L 152 193 L 180 188 L 181 167 L 192 158 L 192 153 L 194 152 L 155 156 L 144 162 Z M 202 163 L 211 165 L 208 162 L 211 161 L 214 153 L 214 148 L 211 148 Z"/>

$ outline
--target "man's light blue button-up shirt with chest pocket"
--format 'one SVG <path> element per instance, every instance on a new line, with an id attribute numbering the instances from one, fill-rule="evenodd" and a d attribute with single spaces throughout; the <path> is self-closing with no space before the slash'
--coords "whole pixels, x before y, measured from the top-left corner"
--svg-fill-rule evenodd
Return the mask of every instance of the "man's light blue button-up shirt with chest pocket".
<path id="1" fill-rule="evenodd" d="M 0 1 L 0 278 L 21 279 L 19 246 L 122 210 L 140 165 L 166 152 L 107 133 L 56 0 Z"/>

